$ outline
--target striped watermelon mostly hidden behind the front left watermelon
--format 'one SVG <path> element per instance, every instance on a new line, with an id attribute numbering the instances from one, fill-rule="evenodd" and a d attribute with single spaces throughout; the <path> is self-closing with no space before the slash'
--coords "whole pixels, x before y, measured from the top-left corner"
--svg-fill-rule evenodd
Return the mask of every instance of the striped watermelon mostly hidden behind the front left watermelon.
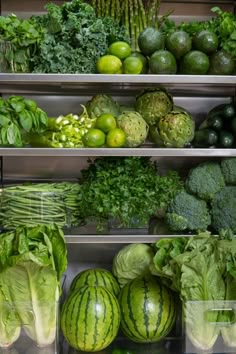
<path id="1" fill-rule="evenodd" d="M 84 285 L 104 286 L 115 296 L 120 293 L 120 286 L 114 275 L 102 268 L 86 269 L 77 274 L 71 283 L 70 291 L 79 289 Z"/>

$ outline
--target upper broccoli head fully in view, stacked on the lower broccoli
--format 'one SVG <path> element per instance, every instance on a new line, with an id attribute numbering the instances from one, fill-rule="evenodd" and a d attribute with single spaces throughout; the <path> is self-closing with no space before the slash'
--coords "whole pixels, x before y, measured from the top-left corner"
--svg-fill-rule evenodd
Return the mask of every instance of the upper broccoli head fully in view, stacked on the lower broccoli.
<path id="1" fill-rule="evenodd" d="M 189 193 L 206 201 L 212 200 L 224 186 L 224 176 L 216 162 L 203 162 L 192 168 L 185 182 L 185 188 Z"/>

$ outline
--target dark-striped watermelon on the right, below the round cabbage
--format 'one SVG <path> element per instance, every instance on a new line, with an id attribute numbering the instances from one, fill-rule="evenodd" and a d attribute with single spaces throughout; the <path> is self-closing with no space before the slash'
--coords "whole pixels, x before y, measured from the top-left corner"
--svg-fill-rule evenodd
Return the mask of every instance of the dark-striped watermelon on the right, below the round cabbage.
<path id="1" fill-rule="evenodd" d="M 151 275 L 126 284 L 119 302 L 121 329 L 137 343 L 159 341 L 170 332 L 176 319 L 172 293 Z"/>

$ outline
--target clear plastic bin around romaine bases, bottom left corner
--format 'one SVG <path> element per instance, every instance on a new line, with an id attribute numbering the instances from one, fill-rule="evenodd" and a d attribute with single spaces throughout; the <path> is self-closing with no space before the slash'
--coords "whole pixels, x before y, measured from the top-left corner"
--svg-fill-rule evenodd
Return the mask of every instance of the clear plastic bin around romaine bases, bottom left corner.
<path id="1" fill-rule="evenodd" d="M 59 354 L 58 302 L 1 302 L 0 306 L 0 354 Z"/>

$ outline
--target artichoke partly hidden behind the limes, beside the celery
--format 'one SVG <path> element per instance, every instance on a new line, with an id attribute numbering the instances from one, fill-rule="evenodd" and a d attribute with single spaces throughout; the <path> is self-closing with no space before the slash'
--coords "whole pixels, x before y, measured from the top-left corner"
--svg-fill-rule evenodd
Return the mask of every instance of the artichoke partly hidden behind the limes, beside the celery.
<path id="1" fill-rule="evenodd" d="M 110 113 L 114 117 L 120 114 L 120 105 L 109 95 L 95 95 L 87 102 L 86 108 L 91 118 L 97 118 L 103 113 Z"/>

